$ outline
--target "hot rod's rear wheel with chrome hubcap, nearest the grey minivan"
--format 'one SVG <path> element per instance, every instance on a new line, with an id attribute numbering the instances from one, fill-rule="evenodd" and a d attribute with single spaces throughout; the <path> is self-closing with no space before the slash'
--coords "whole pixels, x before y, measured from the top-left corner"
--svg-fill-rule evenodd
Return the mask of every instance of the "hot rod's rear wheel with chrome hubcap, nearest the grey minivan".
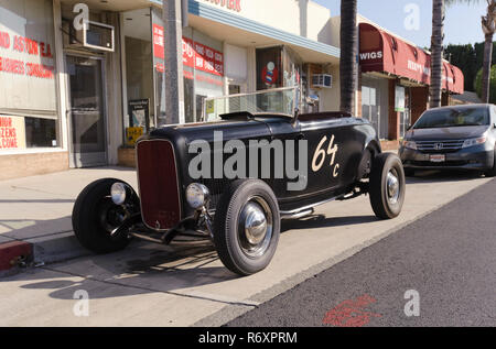
<path id="1" fill-rule="evenodd" d="M 406 179 L 400 159 L 390 153 L 376 156 L 369 183 L 370 205 L 379 219 L 399 216 L 405 203 Z"/>

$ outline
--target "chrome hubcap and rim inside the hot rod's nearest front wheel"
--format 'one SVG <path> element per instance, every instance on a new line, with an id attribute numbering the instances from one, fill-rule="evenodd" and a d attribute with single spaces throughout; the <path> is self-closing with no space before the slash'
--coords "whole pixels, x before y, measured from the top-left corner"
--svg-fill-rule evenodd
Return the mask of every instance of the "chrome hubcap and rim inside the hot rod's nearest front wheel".
<path id="1" fill-rule="evenodd" d="M 239 215 L 238 238 L 242 252 L 257 258 L 263 255 L 272 239 L 272 211 L 261 197 L 252 197 Z"/>

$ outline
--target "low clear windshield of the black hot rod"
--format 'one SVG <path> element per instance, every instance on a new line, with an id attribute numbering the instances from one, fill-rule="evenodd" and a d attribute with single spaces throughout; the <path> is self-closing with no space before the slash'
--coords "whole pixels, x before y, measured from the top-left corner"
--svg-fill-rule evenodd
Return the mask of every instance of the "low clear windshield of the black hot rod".
<path id="1" fill-rule="evenodd" d="M 204 105 L 204 121 L 215 121 L 223 114 L 245 111 L 261 117 L 265 114 L 293 117 L 299 98 L 299 91 L 294 87 L 208 98 Z"/>

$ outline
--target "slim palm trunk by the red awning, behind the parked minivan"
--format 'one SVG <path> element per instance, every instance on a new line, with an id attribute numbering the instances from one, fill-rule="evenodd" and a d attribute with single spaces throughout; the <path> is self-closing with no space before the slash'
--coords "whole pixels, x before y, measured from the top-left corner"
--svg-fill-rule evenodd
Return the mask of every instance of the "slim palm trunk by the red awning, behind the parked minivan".
<path id="1" fill-rule="evenodd" d="M 432 0 L 430 107 L 441 107 L 444 36 L 444 0 Z"/>

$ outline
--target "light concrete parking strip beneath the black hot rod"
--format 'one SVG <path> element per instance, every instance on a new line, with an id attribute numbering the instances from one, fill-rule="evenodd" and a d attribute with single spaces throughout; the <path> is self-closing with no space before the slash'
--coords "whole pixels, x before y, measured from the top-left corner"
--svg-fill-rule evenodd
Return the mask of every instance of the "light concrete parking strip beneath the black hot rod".
<path id="1" fill-rule="evenodd" d="M 90 181 L 83 176 L 75 185 Z M 270 266 L 244 279 L 222 265 L 208 242 L 137 242 L 119 253 L 30 270 L 0 281 L 0 325 L 219 326 L 488 181 L 432 173 L 410 179 L 401 216 L 388 221 L 374 217 L 368 197 L 322 206 L 312 217 L 285 221 Z M 90 298 L 89 317 L 73 314 L 80 290 Z"/>

